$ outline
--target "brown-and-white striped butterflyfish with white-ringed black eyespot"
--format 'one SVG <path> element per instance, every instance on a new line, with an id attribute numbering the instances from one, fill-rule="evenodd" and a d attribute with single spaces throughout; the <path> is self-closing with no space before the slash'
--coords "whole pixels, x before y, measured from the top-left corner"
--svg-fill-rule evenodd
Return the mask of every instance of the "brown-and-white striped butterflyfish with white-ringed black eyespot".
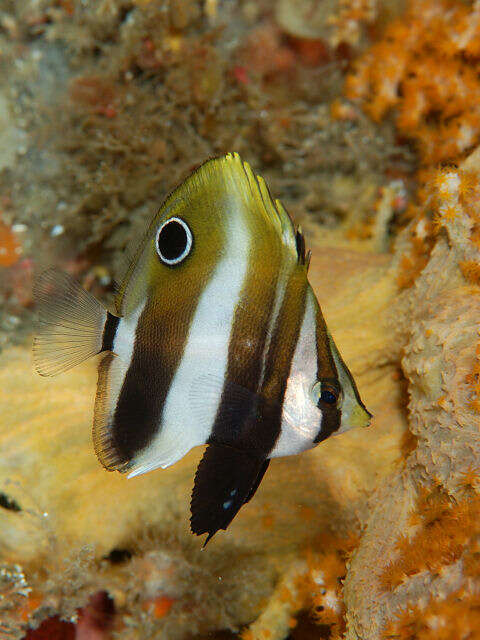
<path id="1" fill-rule="evenodd" d="M 206 542 L 253 497 L 271 458 L 370 422 L 309 260 L 301 230 L 234 153 L 168 196 L 112 309 L 55 269 L 35 285 L 38 373 L 100 354 L 93 443 L 106 469 L 132 478 L 206 445 L 190 519 Z"/>

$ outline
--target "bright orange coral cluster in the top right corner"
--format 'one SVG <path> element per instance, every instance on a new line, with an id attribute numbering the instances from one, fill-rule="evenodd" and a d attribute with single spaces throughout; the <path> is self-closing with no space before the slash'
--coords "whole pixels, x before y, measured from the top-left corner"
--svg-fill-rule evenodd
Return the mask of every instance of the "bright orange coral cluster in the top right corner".
<path id="1" fill-rule="evenodd" d="M 480 140 L 480 7 L 410 1 L 357 62 L 346 94 L 375 120 L 395 110 L 425 165 L 456 160 Z"/>

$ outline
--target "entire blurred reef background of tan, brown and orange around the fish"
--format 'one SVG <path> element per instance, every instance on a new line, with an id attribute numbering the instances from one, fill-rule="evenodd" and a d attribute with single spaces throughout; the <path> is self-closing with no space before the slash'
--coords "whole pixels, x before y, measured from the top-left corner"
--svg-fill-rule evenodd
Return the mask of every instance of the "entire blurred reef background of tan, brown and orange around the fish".
<path id="1" fill-rule="evenodd" d="M 478 1 L 0 0 L 1 640 L 480 638 L 479 70 Z M 111 299 L 229 151 L 302 225 L 374 420 L 201 551 L 201 451 L 104 471 L 95 365 L 33 371 L 32 284 Z"/>

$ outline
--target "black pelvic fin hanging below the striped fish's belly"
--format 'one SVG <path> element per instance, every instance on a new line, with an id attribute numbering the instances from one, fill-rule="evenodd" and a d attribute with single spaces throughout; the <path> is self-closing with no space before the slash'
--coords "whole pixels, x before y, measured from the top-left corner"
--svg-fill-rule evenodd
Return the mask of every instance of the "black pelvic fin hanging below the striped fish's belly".
<path id="1" fill-rule="evenodd" d="M 226 529 L 255 493 L 268 466 L 265 459 L 218 444 L 209 444 L 198 465 L 192 492 L 190 526 L 208 533 L 207 542 Z"/>

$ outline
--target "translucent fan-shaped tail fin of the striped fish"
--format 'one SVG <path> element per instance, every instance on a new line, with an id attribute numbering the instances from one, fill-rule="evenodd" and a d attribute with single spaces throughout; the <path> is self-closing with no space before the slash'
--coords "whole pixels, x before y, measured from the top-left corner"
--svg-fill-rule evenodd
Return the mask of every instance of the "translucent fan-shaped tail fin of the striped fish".
<path id="1" fill-rule="evenodd" d="M 72 276 L 48 269 L 33 294 L 38 312 L 33 358 L 41 376 L 67 371 L 102 350 L 107 311 Z"/>

